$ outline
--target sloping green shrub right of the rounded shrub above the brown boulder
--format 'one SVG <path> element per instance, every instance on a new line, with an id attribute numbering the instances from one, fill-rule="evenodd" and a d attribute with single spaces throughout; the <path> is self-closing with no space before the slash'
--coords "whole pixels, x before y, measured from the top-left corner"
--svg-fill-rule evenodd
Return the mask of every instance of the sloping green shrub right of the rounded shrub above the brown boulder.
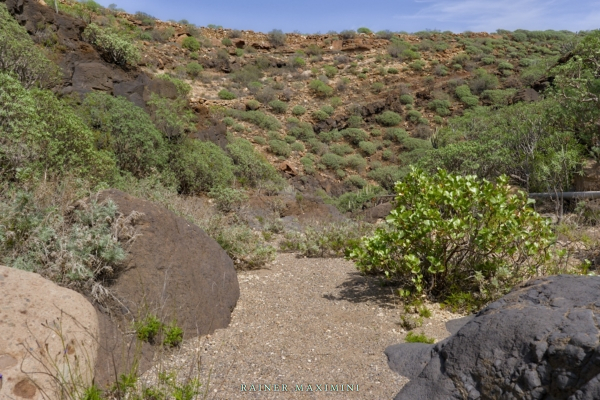
<path id="1" fill-rule="evenodd" d="M 279 183 L 281 180 L 275 168 L 246 139 L 234 139 L 227 145 L 227 151 L 233 160 L 234 174 L 240 183 L 255 187 L 261 182 Z"/>

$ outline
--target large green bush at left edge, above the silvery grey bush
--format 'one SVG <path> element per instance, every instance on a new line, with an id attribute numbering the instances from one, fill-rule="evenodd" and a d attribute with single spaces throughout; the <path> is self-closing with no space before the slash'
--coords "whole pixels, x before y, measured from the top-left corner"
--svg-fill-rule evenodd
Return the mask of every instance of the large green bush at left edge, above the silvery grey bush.
<path id="1" fill-rule="evenodd" d="M 98 151 L 94 132 L 65 102 L 46 90 L 26 90 L 0 72 L 0 179 L 43 174 L 110 181 L 115 164 Z"/>

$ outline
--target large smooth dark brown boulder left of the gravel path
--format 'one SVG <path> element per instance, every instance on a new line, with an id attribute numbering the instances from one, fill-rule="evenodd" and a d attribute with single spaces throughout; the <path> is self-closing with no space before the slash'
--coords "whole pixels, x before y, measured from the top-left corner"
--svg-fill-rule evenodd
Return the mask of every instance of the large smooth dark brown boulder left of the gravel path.
<path id="1" fill-rule="evenodd" d="M 136 222 L 137 233 L 128 249 L 124 270 L 107 287 L 115 298 L 111 318 L 99 312 L 100 351 L 96 382 L 114 379 L 113 362 L 124 372 L 124 359 L 133 360 L 128 346 L 134 338 L 131 320 L 148 313 L 164 323 L 176 321 L 191 338 L 225 328 L 240 295 L 237 274 L 227 253 L 202 229 L 166 208 L 110 189 L 99 200 L 112 199 L 119 212 L 143 213 Z M 153 348 L 142 349 L 140 368 L 151 361 Z M 117 359 L 115 361 L 115 359 Z"/>

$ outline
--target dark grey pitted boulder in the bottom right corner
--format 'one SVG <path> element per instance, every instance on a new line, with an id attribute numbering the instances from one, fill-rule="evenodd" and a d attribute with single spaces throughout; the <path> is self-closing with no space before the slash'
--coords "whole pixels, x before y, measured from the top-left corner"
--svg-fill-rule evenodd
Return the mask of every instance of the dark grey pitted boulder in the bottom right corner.
<path id="1" fill-rule="evenodd" d="M 599 323 L 600 277 L 532 280 L 431 346 L 396 400 L 598 399 Z"/>

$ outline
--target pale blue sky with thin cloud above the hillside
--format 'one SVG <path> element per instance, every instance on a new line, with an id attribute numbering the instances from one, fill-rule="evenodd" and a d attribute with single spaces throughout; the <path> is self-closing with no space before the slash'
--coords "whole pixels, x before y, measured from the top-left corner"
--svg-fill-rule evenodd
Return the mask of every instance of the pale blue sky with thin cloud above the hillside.
<path id="1" fill-rule="evenodd" d="M 268 32 L 330 30 L 454 32 L 600 28 L 600 0 L 96 0 L 161 20 Z"/>

